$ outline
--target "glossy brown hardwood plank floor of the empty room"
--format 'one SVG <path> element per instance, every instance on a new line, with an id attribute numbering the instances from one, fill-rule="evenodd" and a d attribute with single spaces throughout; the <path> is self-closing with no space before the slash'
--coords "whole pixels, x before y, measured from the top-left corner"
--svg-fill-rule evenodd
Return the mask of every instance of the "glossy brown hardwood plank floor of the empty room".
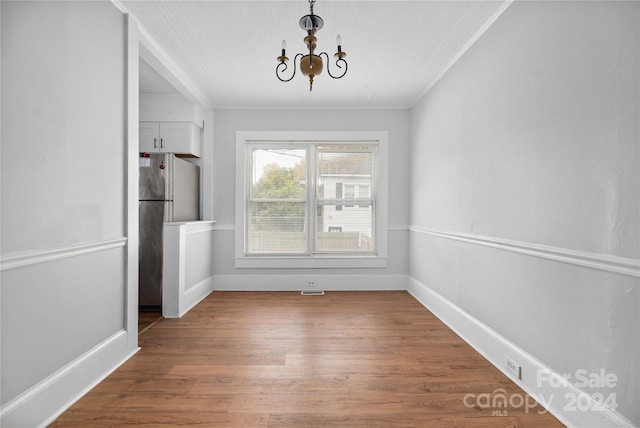
<path id="1" fill-rule="evenodd" d="M 563 426 L 402 291 L 215 292 L 139 339 L 51 426 Z"/>

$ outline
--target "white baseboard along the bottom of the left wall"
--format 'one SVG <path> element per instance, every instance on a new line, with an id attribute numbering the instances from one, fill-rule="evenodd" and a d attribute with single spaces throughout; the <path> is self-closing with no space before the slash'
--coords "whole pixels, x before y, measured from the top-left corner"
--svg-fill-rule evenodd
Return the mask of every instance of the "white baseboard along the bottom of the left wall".
<path id="1" fill-rule="evenodd" d="M 104 380 L 138 349 L 121 330 L 0 409 L 0 426 L 44 427 Z"/>

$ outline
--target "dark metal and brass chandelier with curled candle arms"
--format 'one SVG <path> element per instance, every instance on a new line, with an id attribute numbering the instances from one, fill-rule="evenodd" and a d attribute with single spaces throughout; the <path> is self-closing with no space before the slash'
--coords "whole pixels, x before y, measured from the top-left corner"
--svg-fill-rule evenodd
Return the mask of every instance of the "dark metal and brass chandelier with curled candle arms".
<path id="1" fill-rule="evenodd" d="M 313 13 L 313 4 L 316 0 L 309 0 L 309 14 L 300 18 L 300 28 L 307 32 L 307 36 L 304 38 L 304 44 L 307 45 L 309 50 L 308 54 L 296 54 L 293 59 L 293 73 L 288 78 L 285 76 L 287 71 L 287 61 L 289 58 L 286 56 L 287 42 L 282 41 L 282 55 L 278 57 L 278 65 L 276 66 L 276 76 L 282 82 L 289 82 L 296 75 L 296 61 L 300 57 L 300 71 L 305 76 L 309 77 L 309 92 L 313 90 L 313 78 L 322 73 L 323 63 L 322 56 L 327 59 L 327 73 L 334 79 L 340 79 L 347 74 L 347 61 L 344 57 L 347 56 L 346 52 L 342 51 L 342 39 L 340 34 L 336 38 L 336 44 L 338 45 L 338 52 L 333 55 L 336 58 L 336 67 L 342 70 L 342 73 L 334 75 L 329 69 L 329 55 L 326 52 L 321 52 L 318 55 L 315 54 L 316 50 L 316 32 L 320 30 L 324 21 L 318 15 Z"/>

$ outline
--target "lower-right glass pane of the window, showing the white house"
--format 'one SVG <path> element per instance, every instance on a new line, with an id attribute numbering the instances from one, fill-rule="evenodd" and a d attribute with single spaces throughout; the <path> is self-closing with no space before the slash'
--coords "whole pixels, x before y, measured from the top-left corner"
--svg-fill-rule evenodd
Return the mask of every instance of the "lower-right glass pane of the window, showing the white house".
<path id="1" fill-rule="evenodd" d="M 373 207 L 337 209 L 333 203 L 319 204 L 316 221 L 316 251 L 373 252 Z"/>

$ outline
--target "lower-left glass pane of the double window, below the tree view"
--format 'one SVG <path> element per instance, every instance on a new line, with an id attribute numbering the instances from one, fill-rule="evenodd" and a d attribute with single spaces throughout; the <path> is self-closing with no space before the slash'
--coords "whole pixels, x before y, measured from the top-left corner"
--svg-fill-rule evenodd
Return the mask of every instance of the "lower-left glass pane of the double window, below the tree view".
<path id="1" fill-rule="evenodd" d="M 305 253 L 304 202 L 252 202 L 249 253 Z"/>

